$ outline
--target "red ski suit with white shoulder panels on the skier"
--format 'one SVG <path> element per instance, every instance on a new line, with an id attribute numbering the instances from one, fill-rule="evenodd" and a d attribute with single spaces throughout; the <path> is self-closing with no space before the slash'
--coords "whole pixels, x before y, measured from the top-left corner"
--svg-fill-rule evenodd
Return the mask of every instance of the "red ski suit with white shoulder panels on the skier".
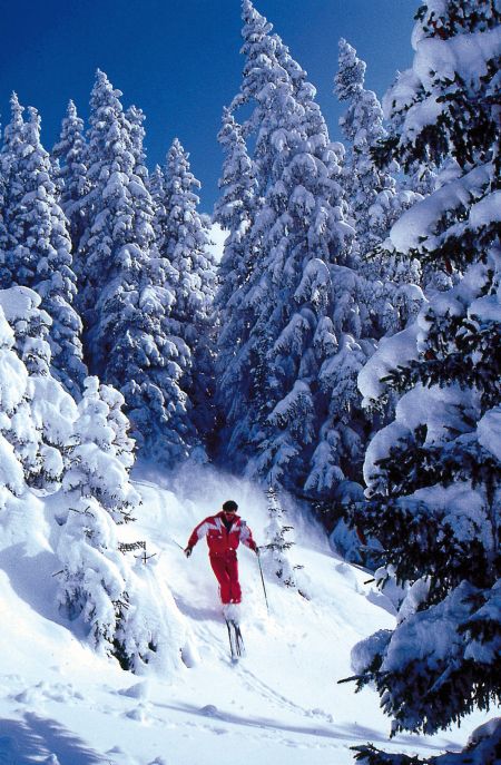
<path id="1" fill-rule="evenodd" d="M 239 516 L 232 517 L 229 531 L 225 526 L 225 513 L 209 516 L 193 530 L 188 547 L 195 547 L 203 537 L 207 538 L 209 560 L 219 582 L 220 599 L 224 604 L 240 602 L 242 589 L 238 581 L 238 560 L 236 549 L 240 542 L 250 550 L 257 550 L 256 542 L 247 523 Z"/>

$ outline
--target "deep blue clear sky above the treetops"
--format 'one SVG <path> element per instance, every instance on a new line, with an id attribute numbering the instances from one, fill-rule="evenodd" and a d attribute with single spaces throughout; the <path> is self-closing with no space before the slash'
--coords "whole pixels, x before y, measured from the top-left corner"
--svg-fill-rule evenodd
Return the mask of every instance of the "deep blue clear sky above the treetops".
<path id="1" fill-rule="evenodd" d="M 415 0 L 256 0 L 294 58 L 308 71 L 333 139 L 342 107 L 332 95 L 337 40 L 367 62 L 366 85 L 381 97 L 412 59 Z M 0 112 L 12 90 L 42 117 L 42 139 L 57 138 L 69 98 L 88 114 L 96 69 L 104 69 L 147 116 L 148 165 L 175 136 L 202 180 L 202 209 L 217 196 L 220 115 L 237 91 L 243 57 L 239 0 L 42 0 L 3 3 Z"/>

